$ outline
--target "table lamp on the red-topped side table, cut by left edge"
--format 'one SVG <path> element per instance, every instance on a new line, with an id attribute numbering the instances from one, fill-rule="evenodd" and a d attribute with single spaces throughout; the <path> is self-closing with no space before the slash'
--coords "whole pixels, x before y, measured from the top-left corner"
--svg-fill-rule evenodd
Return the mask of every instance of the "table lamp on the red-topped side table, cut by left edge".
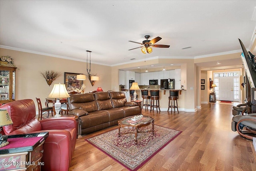
<path id="1" fill-rule="evenodd" d="M 2 131 L 2 127 L 6 126 L 6 125 L 11 125 L 12 119 L 9 115 L 9 113 L 7 112 L 6 109 L 0 109 L 0 131 Z M 0 133 L 0 147 L 4 147 L 7 144 L 9 144 L 9 142 L 7 141 L 8 136 L 7 135 L 2 135 Z"/>

